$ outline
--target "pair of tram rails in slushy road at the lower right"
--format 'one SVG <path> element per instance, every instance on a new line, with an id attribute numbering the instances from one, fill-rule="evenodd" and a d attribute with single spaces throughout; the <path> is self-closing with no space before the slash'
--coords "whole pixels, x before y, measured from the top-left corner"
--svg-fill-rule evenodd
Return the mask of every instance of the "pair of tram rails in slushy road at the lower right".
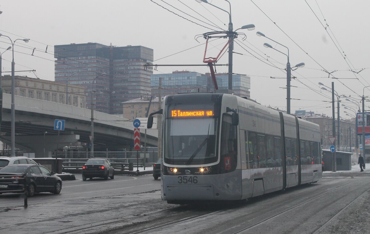
<path id="1" fill-rule="evenodd" d="M 257 227 L 258 225 L 261 225 L 261 224 L 263 224 L 263 223 L 266 223 L 266 222 L 268 222 L 268 221 L 271 221 L 271 220 L 273 220 L 274 218 L 276 218 L 276 217 L 278 217 L 278 216 L 280 216 L 280 215 L 282 215 L 282 214 L 284 214 L 284 213 L 287 213 L 288 211 L 290 211 L 290 210 L 293 210 L 293 209 L 295 209 L 295 208 L 297 208 L 297 207 L 300 207 L 301 205 L 303 205 L 303 204 L 306 204 L 306 203 L 308 203 L 308 202 L 310 202 L 310 201 L 312 201 L 312 200 L 314 200 L 314 199 L 316 199 L 316 198 L 319 198 L 319 197 L 322 197 L 323 195 L 326 195 L 326 194 L 328 194 L 328 193 L 331 193 L 331 192 L 333 192 L 333 191 L 336 191 L 336 190 L 338 190 L 338 189 L 340 189 L 340 188 L 343 188 L 343 187 L 346 187 L 346 186 L 348 186 L 348 185 L 351 185 L 351 184 L 353 184 L 353 183 L 357 183 L 357 182 L 359 182 L 359 181 L 361 181 L 361 180 L 357 180 L 357 181 L 353 181 L 353 182 L 351 182 L 351 183 L 348 183 L 348 184 L 345 184 L 345 185 L 342 185 L 342 186 L 340 186 L 340 187 L 337 187 L 337 188 L 334 188 L 334 189 L 332 189 L 332 190 L 330 190 L 330 191 L 327 191 L 327 192 L 325 192 L 325 193 L 322 193 L 322 194 L 320 194 L 320 195 L 317 195 L 317 196 L 315 196 L 315 197 L 313 197 L 313 198 L 310 198 L 310 199 L 308 199 L 308 200 L 306 200 L 306 201 L 303 201 L 302 203 L 299 203 L 299 204 L 297 204 L 297 205 L 294 205 L 294 206 L 292 206 L 292 207 L 290 207 L 290 208 L 287 208 L 287 209 L 285 209 L 285 210 L 283 210 L 283 211 L 280 211 L 279 213 L 277 213 L 277 214 L 274 214 L 274 215 L 271 215 L 270 217 L 268 217 L 268 218 L 265 218 L 265 219 L 263 219 L 263 220 L 261 220 L 261 221 L 259 221 L 259 222 L 257 222 L 257 223 L 254 223 L 254 224 L 252 224 L 252 225 L 249 225 L 248 227 L 245 227 L 245 228 L 243 228 L 243 229 L 241 229 L 241 230 L 238 230 L 238 231 L 236 231 L 236 232 L 234 232 L 234 233 L 232 233 L 232 234 L 239 234 L 239 233 L 243 233 L 243 232 L 245 232 L 245 231 L 247 231 L 247 230 L 250 230 L 251 228 L 254 228 L 254 227 Z M 370 189 L 369 189 L 370 190 Z M 366 193 L 367 191 L 369 191 L 369 190 L 366 190 L 364 193 Z M 364 193 L 362 193 L 361 195 L 363 195 Z M 351 203 L 350 204 L 352 204 L 354 201 L 356 201 L 359 197 L 361 197 L 361 195 L 359 195 L 357 198 L 355 198 L 353 201 L 351 201 Z M 323 225 L 327 225 L 327 224 L 329 224 L 330 223 L 330 221 L 332 221 L 337 215 L 339 215 L 345 208 L 347 208 L 350 204 L 348 204 L 348 205 L 346 205 L 345 207 L 343 207 L 336 215 L 334 215 L 332 218 L 330 218 L 329 220 L 327 220 Z M 317 229 L 317 230 L 319 230 L 320 229 L 320 227 Z M 322 230 L 322 229 L 320 229 L 320 230 Z M 312 233 L 312 234 L 316 234 L 315 232 L 314 233 Z"/>

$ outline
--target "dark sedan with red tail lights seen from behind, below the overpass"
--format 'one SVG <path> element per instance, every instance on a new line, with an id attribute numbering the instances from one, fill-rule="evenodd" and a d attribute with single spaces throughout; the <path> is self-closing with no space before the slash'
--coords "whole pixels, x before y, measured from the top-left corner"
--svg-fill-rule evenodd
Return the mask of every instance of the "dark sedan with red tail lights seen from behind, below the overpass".
<path id="1" fill-rule="evenodd" d="M 94 177 L 114 179 L 114 168 L 107 158 L 91 158 L 82 167 L 82 180 L 92 180 Z"/>

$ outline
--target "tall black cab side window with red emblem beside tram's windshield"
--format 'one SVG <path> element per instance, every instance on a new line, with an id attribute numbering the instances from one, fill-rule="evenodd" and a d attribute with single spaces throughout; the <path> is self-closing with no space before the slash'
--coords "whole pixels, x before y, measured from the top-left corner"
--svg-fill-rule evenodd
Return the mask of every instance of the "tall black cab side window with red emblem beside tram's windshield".
<path id="1" fill-rule="evenodd" d="M 236 126 L 231 123 L 231 116 L 223 115 L 221 127 L 221 160 L 224 169 L 233 171 L 238 163 L 238 140 L 236 138 Z"/>

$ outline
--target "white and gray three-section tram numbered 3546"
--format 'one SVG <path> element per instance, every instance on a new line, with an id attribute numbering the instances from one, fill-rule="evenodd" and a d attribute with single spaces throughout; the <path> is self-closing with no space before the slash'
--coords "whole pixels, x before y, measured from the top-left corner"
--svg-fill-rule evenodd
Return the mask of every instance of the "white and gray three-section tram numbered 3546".
<path id="1" fill-rule="evenodd" d="M 175 94 L 162 109 L 161 196 L 243 200 L 322 177 L 317 124 L 222 93 Z"/>

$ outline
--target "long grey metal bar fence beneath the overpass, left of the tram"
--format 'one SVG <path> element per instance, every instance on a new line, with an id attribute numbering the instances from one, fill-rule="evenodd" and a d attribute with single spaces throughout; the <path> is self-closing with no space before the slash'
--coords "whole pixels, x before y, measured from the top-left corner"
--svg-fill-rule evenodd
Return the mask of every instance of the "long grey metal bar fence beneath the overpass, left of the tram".
<path id="1" fill-rule="evenodd" d="M 144 158 L 140 158 L 140 154 L 144 154 L 144 152 L 139 152 L 139 163 L 144 162 Z M 55 157 L 55 152 L 49 155 L 50 157 Z M 75 159 L 86 159 L 92 158 L 91 152 L 73 152 L 73 151 L 64 151 L 58 152 L 58 158 L 63 159 L 71 159 L 73 161 L 82 161 L 82 160 L 75 160 Z M 110 158 L 114 159 L 116 163 L 135 163 L 137 160 L 137 152 L 136 151 L 102 151 L 102 152 L 94 152 L 94 158 Z M 150 151 L 147 152 L 147 160 L 146 163 L 155 163 L 158 160 L 158 152 Z M 66 161 L 66 160 L 63 160 Z"/>

